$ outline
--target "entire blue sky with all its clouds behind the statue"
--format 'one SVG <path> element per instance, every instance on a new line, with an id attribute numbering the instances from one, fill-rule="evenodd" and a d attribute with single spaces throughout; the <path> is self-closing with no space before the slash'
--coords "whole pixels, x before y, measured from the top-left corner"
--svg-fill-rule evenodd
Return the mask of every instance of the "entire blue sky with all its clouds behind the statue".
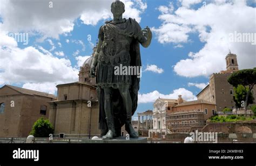
<path id="1" fill-rule="evenodd" d="M 140 82 L 138 112 L 152 110 L 158 97 L 196 99 L 209 76 L 225 70 L 228 49 L 238 55 L 240 69 L 255 67 L 255 45 L 226 40 L 234 31 L 255 33 L 253 0 L 124 2 L 124 17 L 134 16 L 142 28 L 149 26 L 153 31 L 150 47 L 140 47 L 143 70 L 149 70 Z M 35 9 L 24 3 L 5 1 L 0 8 L 0 86 L 56 94 L 56 84 L 77 81 L 79 64 L 91 55 L 99 27 L 111 19 L 107 12 L 111 1 L 94 1 L 95 5 L 93 1 L 53 1 L 52 9 L 48 1 L 31 1 Z M 8 11 L 10 6 L 14 10 Z M 10 39 L 8 34 L 17 32 L 29 34 L 28 45 Z"/>

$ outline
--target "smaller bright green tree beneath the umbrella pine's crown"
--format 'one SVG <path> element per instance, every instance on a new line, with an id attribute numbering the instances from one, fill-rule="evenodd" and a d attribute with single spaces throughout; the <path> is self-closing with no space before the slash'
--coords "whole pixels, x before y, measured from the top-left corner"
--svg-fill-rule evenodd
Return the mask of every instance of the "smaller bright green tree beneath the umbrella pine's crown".
<path id="1" fill-rule="evenodd" d="M 246 95 L 247 95 L 248 90 L 249 90 L 248 87 L 245 88 L 245 86 L 242 86 L 242 85 L 238 85 L 237 88 L 234 87 L 233 99 L 234 99 L 234 102 L 235 102 L 235 106 L 237 106 L 238 108 L 241 107 L 242 101 L 246 100 Z M 253 104 L 253 100 L 254 100 L 254 97 L 252 95 L 252 92 L 250 92 L 247 103 L 248 104 Z"/>

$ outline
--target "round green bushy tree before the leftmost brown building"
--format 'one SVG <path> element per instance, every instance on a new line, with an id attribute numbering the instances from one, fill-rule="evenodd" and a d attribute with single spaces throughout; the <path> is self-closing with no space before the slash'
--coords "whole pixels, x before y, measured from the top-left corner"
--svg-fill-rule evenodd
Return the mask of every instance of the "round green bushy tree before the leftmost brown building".
<path id="1" fill-rule="evenodd" d="M 40 118 L 32 127 L 30 135 L 35 137 L 49 137 L 49 134 L 53 134 L 54 129 L 49 119 Z"/>

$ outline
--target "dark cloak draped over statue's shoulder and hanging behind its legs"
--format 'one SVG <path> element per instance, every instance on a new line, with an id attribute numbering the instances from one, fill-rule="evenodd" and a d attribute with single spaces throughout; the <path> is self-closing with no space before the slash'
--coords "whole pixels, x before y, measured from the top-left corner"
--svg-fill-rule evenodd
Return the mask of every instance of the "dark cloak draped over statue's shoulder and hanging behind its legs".
<path id="1" fill-rule="evenodd" d="M 118 30 L 118 33 L 127 35 L 132 38 L 132 42 L 130 45 L 130 57 L 131 62 L 130 66 L 137 66 L 137 68 L 142 66 L 142 61 L 140 59 L 140 47 L 138 38 L 142 35 L 142 28 L 139 26 L 135 19 L 129 18 L 124 19 L 126 28 L 125 30 Z M 114 21 L 107 21 L 106 24 L 117 24 Z M 142 71 L 140 71 L 140 75 Z M 137 109 L 138 103 L 138 90 L 139 90 L 139 82 L 140 78 L 137 75 L 132 75 L 132 83 L 130 86 L 130 95 L 132 99 L 132 115 Z M 97 94 L 99 100 L 99 129 L 104 131 L 107 130 L 106 116 L 104 111 L 104 91 L 100 86 L 97 87 Z M 118 89 L 113 89 L 112 94 L 112 108 L 114 113 L 114 126 L 116 128 L 117 135 L 120 135 L 120 129 L 124 125 L 126 120 L 126 113 L 124 104 L 122 101 L 122 97 Z"/>

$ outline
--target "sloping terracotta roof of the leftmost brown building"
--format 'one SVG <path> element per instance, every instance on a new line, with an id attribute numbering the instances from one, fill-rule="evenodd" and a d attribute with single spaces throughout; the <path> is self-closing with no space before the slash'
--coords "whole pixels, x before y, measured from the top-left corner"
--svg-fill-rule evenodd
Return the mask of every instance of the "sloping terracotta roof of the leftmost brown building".
<path id="1" fill-rule="evenodd" d="M 20 87 L 12 86 L 12 85 L 4 85 L 4 86 L 7 86 L 7 87 L 9 87 L 9 88 L 11 88 L 15 91 L 18 91 L 22 94 L 25 94 L 25 95 L 43 96 L 43 97 L 48 97 L 48 98 L 53 98 L 53 99 L 57 98 L 55 95 L 51 95 L 49 93 L 39 92 L 39 91 L 25 89 L 25 88 L 20 88 Z"/>

